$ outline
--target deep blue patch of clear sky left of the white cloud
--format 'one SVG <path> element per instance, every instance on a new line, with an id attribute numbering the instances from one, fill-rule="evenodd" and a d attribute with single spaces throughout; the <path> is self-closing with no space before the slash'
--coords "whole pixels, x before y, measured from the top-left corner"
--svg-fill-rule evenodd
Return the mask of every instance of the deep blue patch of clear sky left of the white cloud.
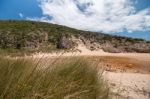
<path id="1" fill-rule="evenodd" d="M 21 18 L 19 13 L 24 17 Z M 35 16 L 42 16 L 36 0 L 0 0 L 0 19 L 26 19 Z"/>

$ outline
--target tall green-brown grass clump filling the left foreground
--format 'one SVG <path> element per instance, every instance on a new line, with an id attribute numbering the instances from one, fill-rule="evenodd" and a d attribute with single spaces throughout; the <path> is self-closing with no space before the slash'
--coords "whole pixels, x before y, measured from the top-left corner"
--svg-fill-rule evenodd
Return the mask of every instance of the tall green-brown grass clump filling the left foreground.
<path id="1" fill-rule="evenodd" d="M 0 99 L 108 98 L 107 85 L 86 59 L 41 61 L 0 57 Z"/>

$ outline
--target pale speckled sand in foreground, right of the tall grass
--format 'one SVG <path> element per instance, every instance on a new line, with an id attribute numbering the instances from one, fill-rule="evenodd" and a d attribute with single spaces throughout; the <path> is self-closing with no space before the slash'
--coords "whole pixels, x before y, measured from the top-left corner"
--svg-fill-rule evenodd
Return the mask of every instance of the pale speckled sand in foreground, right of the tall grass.
<path id="1" fill-rule="evenodd" d="M 114 99 L 150 99 L 150 75 L 105 72 L 111 90 L 120 96 Z"/>

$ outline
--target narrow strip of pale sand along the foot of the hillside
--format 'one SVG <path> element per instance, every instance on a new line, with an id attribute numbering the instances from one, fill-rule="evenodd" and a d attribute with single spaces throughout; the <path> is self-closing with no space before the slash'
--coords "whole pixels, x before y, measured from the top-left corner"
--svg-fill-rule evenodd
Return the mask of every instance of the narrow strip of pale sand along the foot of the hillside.
<path id="1" fill-rule="evenodd" d="M 131 57 L 136 59 L 142 59 L 145 61 L 150 61 L 150 54 L 147 53 L 108 53 L 104 52 L 102 49 L 91 51 L 87 49 L 84 45 L 79 45 L 77 51 L 74 52 L 59 52 L 59 53 L 35 53 L 32 57 L 56 57 L 56 56 L 123 56 Z"/>

